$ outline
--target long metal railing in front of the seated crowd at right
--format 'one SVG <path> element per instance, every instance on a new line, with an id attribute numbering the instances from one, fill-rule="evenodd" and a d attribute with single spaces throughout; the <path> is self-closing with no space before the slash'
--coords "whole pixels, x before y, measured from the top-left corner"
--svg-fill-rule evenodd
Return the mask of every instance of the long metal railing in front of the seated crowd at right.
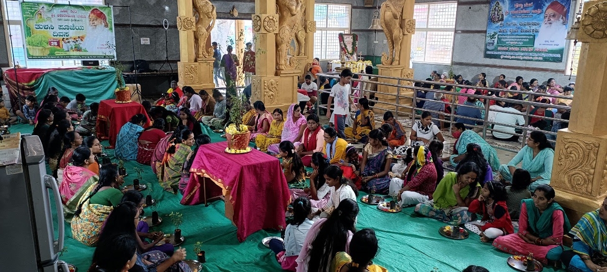
<path id="1" fill-rule="evenodd" d="M 354 73 L 354 74 L 359 75 L 359 76 L 368 76 L 370 78 L 387 79 L 387 80 L 396 81 L 396 84 L 392 84 L 392 83 L 387 83 L 387 82 L 379 82 L 379 80 L 378 81 L 369 81 L 369 80 L 364 80 L 364 79 L 360 79 L 360 78 L 358 78 L 358 79 L 353 78 L 353 79 L 351 79 L 351 81 L 361 82 L 361 83 L 359 83 L 359 86 L 361 87 L 361 96 L 353 96 L 353 98 L 355 98 L 355 99 L 362 98 L 363 92 L 364 93 L 374 93 L 375 95 L 379 94 L 379 95 L 384 95 L 387 97 L 395 98 L 395 103 L 391 103 L 388 101 L 381 101 L 381 98 L 378 100 L 370 100 L 370 102 L 375 103 L 375 105 L 372 108 L 376 108 L 376 109 L 382 110 L 382 111 L 388 111 L 388 110 L 393 111 L 394 116 L 397 119 L 399 117 L 409 118 L 411 121 L 410 125 L 403 124 L 405 127 L 411 128 L 415 119 L 418 118 L 416 111 L 429 111 L 433 115 L 438 114 L 439 116 L 444 116 L 444 120 L 441 120 L 441 121 L 448 123 L 449 126 L 455 124 L 456 119 L 458 119 L 458 118 L 469 119 L 469 120 L 472 120 L 475 122 L 483 122 L 482 125 L 465 124 L 466 127 L 480 128 L 482 130 L 483 139 L 487 139 L 487 132 L 489 132 L 489 131 L 498 131 L 500 133 L 510 134 L 512 136 L 523 136 L 523 141 L 521 141 L 521 142 L 507 142 L 507 141 L 503 140 L 504 143 L 507 142 L 507 143 L 512 143 L 512 144 L 519 144 L 518 149 L 504 148 L 504 147 L 492 145 L 493 148 L 498 148 L 501 150 L 518 152 L 520 150 L 520 148 L 524 147 L 525 142 L 526 142 L 526 141 L 524 141 L 524 138 L 526 138 L 526 136 L 527 136 L 527 131 L 532 130 L 531 128 L 528 127 L 530 118 L 537 118 L 537 119 L 541 119 L 541 120 L 545 120 L 545 121 L 557 121 L 557 122 L 569 123 L 569 120 L 566 120 L 566 119 L 549 118 L 546 116 L 539 116 L 536 114 L 531 114 L 531 107 L 556 108 L 557 110 L 570 111 L 571 110 L 570 106 L 544 104 L 544 103 L 535 102 L 535 101 L 525 101 L 525 100 L 521 101 L 518 99 L 511 99 L 508 97 L 510 96 L 510 94 L 512 94 L 512 96 L 521 94 L 523 96 L 523 99 L 525 99 L 525 96 L 527 96 L 528 98 L 531 96 L 533 96 L 533 97 L 542 96 L 544 98 L 557 98 L 557 99 L 571 100 L 572 99 L 571 96 L 551 95 L 549 93 L 534 93 L 534 92 L 520 91 L 520 90 L 506 90 L 506 89 L 498 89 L 498 88 L 476 87 L 476 86 L 469 86 L 469 85 L 452 84 L 452 83 L 447 83 L 447 82 L 420 81 L 420 80 L 416 80 L 416 79 L 394 78 L 394 77 L 390 77 L 390 76 L 368 75 L 368 74 L 364 74 L 364 73 Z M 317 76 L 328 78 L 328 79 L 337 78 L 337 80 L 339 80 L 339 73 L 319 73 L 319 74 L 317 74 Z M 411 82 L 412 85 L 405 85 L 404 84 L 405 82 Z M 389 88 L 395 88 L 396 93 L 385 93 L 385 92 L 381 92 L 381 91 L 362 90 L 362 83 L 375 84 L 378 86 L 378 88 L 376 90 L 379 90 L 379 86 L 387 86 Z M 439 89 L 435 89 L 435 88 L 426 88 L 426 87 L 416 87 L 415 83 L 421 83 L 422 85 L 423 84 L 432 84 L 432 85 L 439 84 L 441 86 L 443 86 L 443 85 L 451 86 L 453 91 L 439 90 Z M 322 82 L 321 82 L 321 84 L 322 84 Z M 319 85 L 319 87 L 320 87 L 320 85 Z M 459 93 L 458 91 L 456 91 L 457 88 L 470 88 L 473 90 L 486 90 L 486 91 L 498 93 L 498 94 L 506 93 L 507 95 L 505 98 L 500 97 L 500 96 L 473 95 L 473 94 L 468 94 L 468 93 Z M 406 90 L 406 91 L 404 92 L 403 90 Z M 424 91 L 425 92 L 424 95 L 426 95 L 426 93 L 428 93 L 428 92 L 433 92 L 433 93 L 443 93 L 443 95 L 450 95 L 452 97 L 451 97 L 450 101 L 437 101 L 434 99 L 426 99 L 425 96 L 423 98 L 418 97 L 418 91 Z M 330 93 L 330 89 L 319 90 L 319 94 L 320 93 Z M 412 93 L 412 95 L 404 95 L 403 93 Z M 483 107 L 476 107 L 475 105 L 458 104 L 459 96 L 465 96 L 466 99 L 467 98 L 482 99 L 481 101 L 484 101 Z M 322 105 L 320 103 L 320 101 L 321 101 L 321 99 L 319 98 L 319 107 L 316 107 L 317 110 L 319 110 L 319 108 L 326 109 L 327 108 L 326 105 Z M 406 101 L 406 102 L 401 103 L 403 101 Z M 435 111 L 435 110 L 428 110 L 426 108 L 418 108 L 418 107 L 416 107 L 417 101 L 424 101 L 424 103 L 426 101 L 433 101 L 433 102 L 442 103 L 444 105 L 450 105 L 451 112 L 449 113 L 449 112 L 445 112 L 445 111 Z M 500 102 L 505 102 L 506 104 L 508 104 L 508 103 L 521 104 L 521 105 L 523 105 L 524 110 L 521 111 L 520 113 L 515 113 L 513 111 L 506 111 L 503 109 L 500 110 L 497 108 L 490 108 L 489 101 L 496 101 L 496 102 L 500 101 Z M 409 103 L 411 105 L 408 105 Z M 394 107 L 394 109 L 384 108 L 386 106 L 392 106 L 392 107 Z M 468 116 L 458 115 L 455 113 L 457 107 L 471 107 L 471 108 L 478 108 L 479 110 L 484 110 L 485 111 L 484 119 L 470 118 Z M 496 112 L 496 113 L 509 113 L 509 114 L 521 115 L 521 116 L 523 116 L 524 121 L 525 121 L 524 125 L 509 125 L 509 124 L 498 123 L 495 121 L 489 121 L 489 112 L 490 111 Z M 548 111 L 548 109 L 546 109 L 546 111 Z M 515 130 L 522 131 L 522 133 L 520 133 L 520 134 L 516 133 L 516 132 L 509 133 L 507 131 L 495 130 L 494 128 L 492 128 L 493 125 L 501 125 L 503 127 L 515 128 Z M 550 135 L 557 134 L 552 131 L 545 131 L 545 130 L 540 130 L 540 131 L 542 131 L 543 133 L 545 133 L 547 135 L 548 134 L 550 134 Z M 497 141 L 501 141 L 501 140 L 497 139 Z M 549 141 L 554 142 L 553 140 L 549 140 Z"/>

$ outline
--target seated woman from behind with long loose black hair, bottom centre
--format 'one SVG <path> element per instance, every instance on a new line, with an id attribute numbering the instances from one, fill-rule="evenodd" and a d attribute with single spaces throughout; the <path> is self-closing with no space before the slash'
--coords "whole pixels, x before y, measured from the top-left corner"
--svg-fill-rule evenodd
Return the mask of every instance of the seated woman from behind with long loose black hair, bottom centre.
<path id="1" fill-rule="evenodd" d="M 297 272 L 327 271 L 337 252 L 350 252 L 358 211 L 356 200 L 344 199 L 331 216 L 314 221 L 297 257 Z"/>

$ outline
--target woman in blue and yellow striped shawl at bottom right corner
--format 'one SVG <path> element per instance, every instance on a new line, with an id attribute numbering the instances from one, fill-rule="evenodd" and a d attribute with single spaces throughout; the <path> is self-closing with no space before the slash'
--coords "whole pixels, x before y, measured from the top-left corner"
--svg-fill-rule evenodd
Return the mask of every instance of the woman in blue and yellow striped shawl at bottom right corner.
<path id="1" fill-rule="evenodd" d="M 607 251 L 605 232 L 607 231 L 607 199 L 598 210 L 586 213 L 569 231 L 573 237 L 573 250 L 563 253 L 563 262 L 569 259 L 568 271 L 607 271 Z M 569 257 L 566 257 L 569 256 Z"/>

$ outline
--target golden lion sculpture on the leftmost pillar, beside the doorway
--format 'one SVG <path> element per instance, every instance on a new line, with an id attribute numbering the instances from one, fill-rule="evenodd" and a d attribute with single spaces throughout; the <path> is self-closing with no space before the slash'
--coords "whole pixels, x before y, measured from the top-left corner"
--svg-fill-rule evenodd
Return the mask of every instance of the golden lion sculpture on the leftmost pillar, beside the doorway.
<path id="1" fill-rule="evenodd" d="M 197 59 L 212 58 L 213 48 L 207 48 L 206 41 L 211 35 L 211 30 L 215 27 L 215 21 L 217 21 L 215 6 L 209 0 L 194 0 L 194 10 L 198 15 L 196 31 L 194 32 Z"/>

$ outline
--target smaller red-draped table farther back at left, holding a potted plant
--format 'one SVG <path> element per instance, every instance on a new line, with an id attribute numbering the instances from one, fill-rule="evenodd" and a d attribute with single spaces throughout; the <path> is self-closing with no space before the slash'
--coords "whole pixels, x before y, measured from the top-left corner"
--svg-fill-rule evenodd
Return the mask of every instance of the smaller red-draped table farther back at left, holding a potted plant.
<path id="1" fill-rule="evenodd" d="M 146 124 L 149 125 L 151 123 L 146 109 L 137 102 L 116 103 L 115 99 L 102 100 L 99 103 L 97 116 L 97 138 L 100 141 L 109 140 L 109 148 L 114 148 L 120 128 L 126 122 L 131 121 L 131 118 L 138 113 L 146 116 L 148 119 Z"/>

